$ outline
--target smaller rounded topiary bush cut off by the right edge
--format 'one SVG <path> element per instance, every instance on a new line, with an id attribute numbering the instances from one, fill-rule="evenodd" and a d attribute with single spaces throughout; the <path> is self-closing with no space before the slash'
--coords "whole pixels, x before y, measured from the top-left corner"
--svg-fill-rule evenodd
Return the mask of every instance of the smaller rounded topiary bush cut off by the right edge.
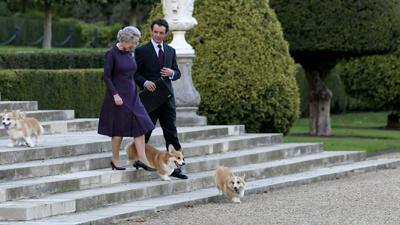
<path id="1" fill-rule="evenodd" d="M 382 111 L 395 111 L 387 126 L 400 128 L 400 51 L 341 60 L 336 68 L 349 96 Z"/>

